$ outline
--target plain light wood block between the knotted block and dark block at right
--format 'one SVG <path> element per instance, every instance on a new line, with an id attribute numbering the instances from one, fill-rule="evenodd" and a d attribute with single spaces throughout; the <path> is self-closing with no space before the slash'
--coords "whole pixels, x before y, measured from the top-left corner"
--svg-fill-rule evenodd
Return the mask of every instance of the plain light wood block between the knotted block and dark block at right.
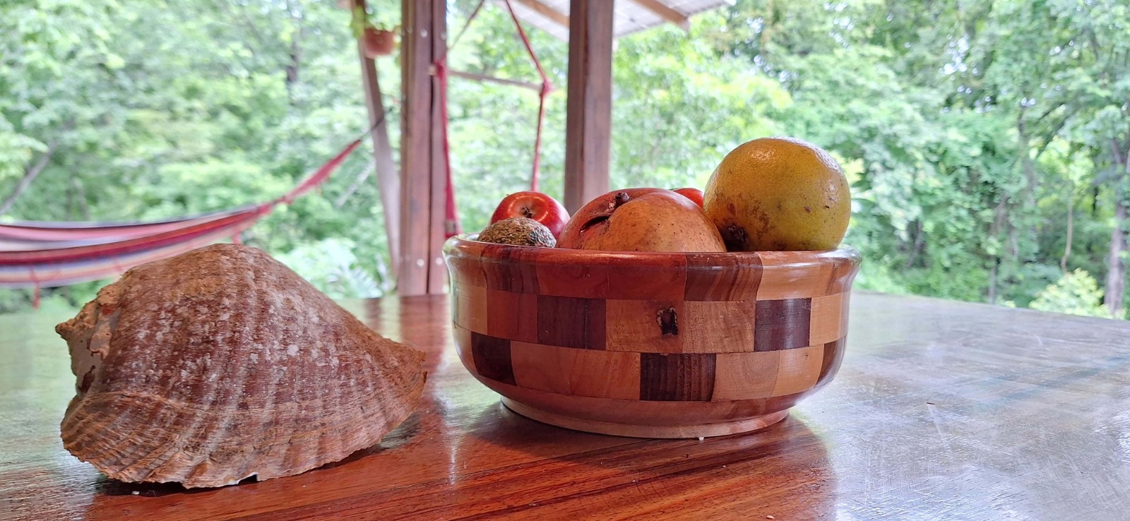
<path id="1" fill-rule="evenodd" d="M 756 316 L 757 301 L 687 301 L 680 319 L 683 353 L 753 351 Z"/>

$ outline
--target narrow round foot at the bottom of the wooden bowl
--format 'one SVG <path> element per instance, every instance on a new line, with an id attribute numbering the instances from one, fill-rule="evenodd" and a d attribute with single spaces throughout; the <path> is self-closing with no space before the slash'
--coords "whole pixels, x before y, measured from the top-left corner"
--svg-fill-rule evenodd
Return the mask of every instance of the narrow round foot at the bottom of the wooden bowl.
<path id="1" fill-rule="evenodd" d="M 572 416 L 563 416 L 556 413 L 547 413 L 505 397 L 503 397 L 502 402 L 507 409 L 544 424 L 556 425 L 558 427 L 571 428 L 573 431 L 584 431 L 586 433 L 610 434 L 614 436 L 628 437 L 683 438 L 724 436 L 727 434 L 748 433 L 765 428 L 781 422 L 785 418 L 785 416 L 789 416 L 789 410 L 785 409 L 779 413 L 755 416 L 753 418 L 736 419 L 732 422 L 722 422 L 716 424 L 628 425 L 611 422 L 599 422 L 594 419 L 574 418 Z"/>

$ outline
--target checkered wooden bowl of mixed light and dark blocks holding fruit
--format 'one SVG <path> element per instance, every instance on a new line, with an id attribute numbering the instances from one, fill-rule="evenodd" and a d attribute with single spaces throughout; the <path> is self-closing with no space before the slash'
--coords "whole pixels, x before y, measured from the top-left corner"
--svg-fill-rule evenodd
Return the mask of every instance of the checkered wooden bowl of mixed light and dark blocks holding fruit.
<path id="1" fill-rule="evenodd" d="M 459 357 L 518 414 L 638 437 L 780 422 L 835 376 L 860 254 L 444 245 Z"/>

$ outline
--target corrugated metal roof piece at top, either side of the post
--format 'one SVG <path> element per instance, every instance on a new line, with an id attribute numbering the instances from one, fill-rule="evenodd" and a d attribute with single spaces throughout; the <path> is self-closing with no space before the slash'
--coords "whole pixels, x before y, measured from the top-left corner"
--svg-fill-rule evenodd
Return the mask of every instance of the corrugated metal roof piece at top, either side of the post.
<path id="1" fill-rule="evenodd" d="M 502 0 L 495 1 L 502 2 Z M 733 6 L 734 0 L 654 0 L 654 2 L 662 3 L 684 17 L 690 17 L 722 6 Z M 612 21 L 612 34 L 616 37 L 668 23 L 666 18 L 645 7 L 645 3 L 616 0 L 616 19 Z M 511 0 L 511 6 L 522 21 L 568 41 L 570 0 Z"/>

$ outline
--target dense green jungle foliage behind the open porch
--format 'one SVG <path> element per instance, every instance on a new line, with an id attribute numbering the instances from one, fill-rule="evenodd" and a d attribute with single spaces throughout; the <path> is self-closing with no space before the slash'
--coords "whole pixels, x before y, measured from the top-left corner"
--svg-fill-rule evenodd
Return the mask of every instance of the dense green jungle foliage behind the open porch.
<path id="1" fill-rule="evenodd" d="M 624 1 L 624 0 L 620 0 Z M 451 0 L 462 27 L 476 0 Z M 399 24 L 399 1 L 370 18 Z M 567 44 L 542 190 L 562 194 Z M 533 80 L 488 2 L 453 68 Z M 398 145 L 395 55 L 377 60 Z M 852 182 L 858 287 L 1124 318 L 1130 5 L 738 0 L 618 40 L 612 186 L 703 186 L 740 142 L 796 136 Z M 0 0 L 0 219 L 158 219 L 278 197 L 367 127 L 333 0 Z M 537 95 L 451 80 L 467 229 L 529 179 Z M 368 144 L 366 142 L 366 146 Z M 244 234 L 334 297 L 393 290 L 371 156 Z M 46 290 L 80 305 L 106 281 Z M 0 290 L 0 311 L 31 292 Z"/>

